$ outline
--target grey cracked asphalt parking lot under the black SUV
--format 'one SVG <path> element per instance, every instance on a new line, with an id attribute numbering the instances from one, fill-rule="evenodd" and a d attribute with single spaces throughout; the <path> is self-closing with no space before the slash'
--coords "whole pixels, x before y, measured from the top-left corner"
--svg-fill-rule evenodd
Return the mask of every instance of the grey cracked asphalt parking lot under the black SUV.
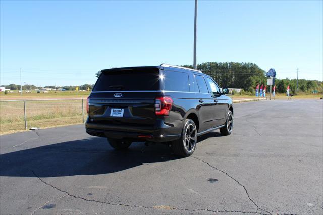
<path id="1" fill-rule="evenodd" d="M 323 102 L 234 105 L 234 130 L 114 151 L 84 125 L 0 137 L 1 214 L 323 214 Z"/>

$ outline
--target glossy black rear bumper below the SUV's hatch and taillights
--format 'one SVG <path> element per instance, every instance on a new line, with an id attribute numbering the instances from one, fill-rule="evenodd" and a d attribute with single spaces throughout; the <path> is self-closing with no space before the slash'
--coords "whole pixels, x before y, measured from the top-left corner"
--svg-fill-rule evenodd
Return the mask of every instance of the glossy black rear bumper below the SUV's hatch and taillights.
<path id="1" fill-rule="evenodd" d="M 163 120 L 158 120 L 154 126 L 87 122 L 85 128 L 86 132 L 92 136 L 131 139 L 133 141 L 168 142 L 180 138 L 182 121 L 174 120 L 166 125 Z"/>

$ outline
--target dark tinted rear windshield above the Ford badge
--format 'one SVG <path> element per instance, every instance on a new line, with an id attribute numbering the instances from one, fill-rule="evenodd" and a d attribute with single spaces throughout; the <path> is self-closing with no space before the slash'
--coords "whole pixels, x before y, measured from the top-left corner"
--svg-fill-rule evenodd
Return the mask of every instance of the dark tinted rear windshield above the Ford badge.
<path id="1" fill-rule="evenodd" d="M 102 71 L 93 91 L 159 90 L 158 69 Z"/>

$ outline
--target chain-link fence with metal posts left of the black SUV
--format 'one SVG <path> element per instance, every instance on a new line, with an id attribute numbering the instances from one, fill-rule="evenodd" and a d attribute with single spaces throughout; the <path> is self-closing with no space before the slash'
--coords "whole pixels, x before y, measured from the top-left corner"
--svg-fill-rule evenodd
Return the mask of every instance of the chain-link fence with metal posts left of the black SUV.
<path id="1" fill-rule="evenodd" d="M 84 123 L 86 117 L 86 98 L 2 100 L 0 134 Z"/>

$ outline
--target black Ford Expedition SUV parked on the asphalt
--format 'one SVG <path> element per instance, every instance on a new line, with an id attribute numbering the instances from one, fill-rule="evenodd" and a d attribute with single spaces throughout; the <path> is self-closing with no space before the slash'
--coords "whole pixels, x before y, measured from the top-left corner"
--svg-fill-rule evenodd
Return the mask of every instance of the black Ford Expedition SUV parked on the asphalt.
<path id="1" fill-rule="evenodd" d="M 233 128 L 228 89 L 198 70 L 161 64 L 101 70 L 87 98 L 86 132 L 115 149 L 132 142 L 163 142 L 190 156 L 197 136 Z"/>

